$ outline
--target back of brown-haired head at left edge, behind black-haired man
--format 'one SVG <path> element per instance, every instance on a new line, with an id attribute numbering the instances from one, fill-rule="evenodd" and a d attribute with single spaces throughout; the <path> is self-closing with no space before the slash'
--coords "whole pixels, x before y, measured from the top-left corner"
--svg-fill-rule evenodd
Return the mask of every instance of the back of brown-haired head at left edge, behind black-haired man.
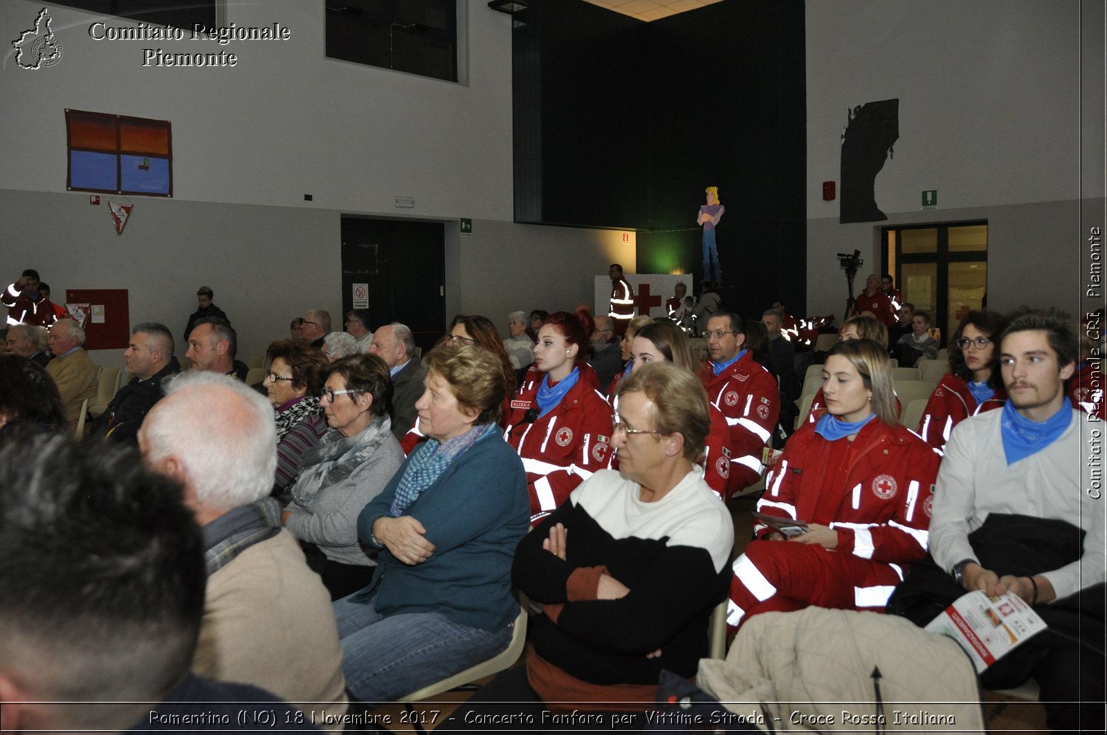
<path id="1" fill-rule="evenodd" d="M 0 355 L 0 445 L 18 434 L 68 427 L 65 405 L 46 371 L 19 355 Z"/>

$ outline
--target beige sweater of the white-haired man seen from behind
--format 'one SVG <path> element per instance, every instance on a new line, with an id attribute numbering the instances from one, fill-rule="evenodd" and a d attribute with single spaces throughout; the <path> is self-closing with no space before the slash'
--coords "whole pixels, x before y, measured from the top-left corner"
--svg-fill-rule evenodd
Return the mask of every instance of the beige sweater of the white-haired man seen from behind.
<path id="1" fill-rule="evenodd" d="M 309 714 L 345 713 L 330 594 L 287 530 L 208 578 L 193 671 L 260 686 Z"/>

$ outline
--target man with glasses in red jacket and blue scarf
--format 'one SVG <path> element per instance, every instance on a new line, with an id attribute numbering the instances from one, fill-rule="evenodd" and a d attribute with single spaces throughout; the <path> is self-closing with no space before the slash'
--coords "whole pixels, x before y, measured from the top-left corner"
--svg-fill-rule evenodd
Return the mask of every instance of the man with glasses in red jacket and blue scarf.
<path id="1" fill-rule="evenodd" d="M 700 370 L 707 400 L 726 417 L 731 438 L 727 497 L 756 483 L 764 472 L 765 447 L 780 414 L 776 379 L 743 349 L 742 318 L 721 309 L 707 320 L 711 360 Z"/>

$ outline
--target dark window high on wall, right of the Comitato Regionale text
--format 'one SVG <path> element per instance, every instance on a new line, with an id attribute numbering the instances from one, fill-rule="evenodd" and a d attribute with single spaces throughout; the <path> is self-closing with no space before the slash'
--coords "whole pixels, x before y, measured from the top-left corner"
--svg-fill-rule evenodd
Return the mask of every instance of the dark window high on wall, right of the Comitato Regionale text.
<path id="1" fill-rule="evenodd" d="M 457 81 L 456 0 L 327 0 L 327 55 Z"/>

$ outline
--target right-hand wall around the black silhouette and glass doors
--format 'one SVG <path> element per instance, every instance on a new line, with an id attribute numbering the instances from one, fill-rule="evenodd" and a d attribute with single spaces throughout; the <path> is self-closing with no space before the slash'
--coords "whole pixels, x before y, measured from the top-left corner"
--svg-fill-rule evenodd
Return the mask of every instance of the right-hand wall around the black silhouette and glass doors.
<path id="1" fill-rule="evenodd" d="M 1075 311 L 1080 201 L 1103 221 L 1103 18 L 1078 0 L 807 0 L 808 313 L 840 318 L 834 256 L 858 248 L 877 271 L 881 226 L 977 218 L 991 308 Z M 892 97 L 900 136 L 876 180 L 888 220 L 839 225 L 821 182 L 840 185 L 846 111 Z M 923 189 L 939 209 L 921 209 Z"/>

